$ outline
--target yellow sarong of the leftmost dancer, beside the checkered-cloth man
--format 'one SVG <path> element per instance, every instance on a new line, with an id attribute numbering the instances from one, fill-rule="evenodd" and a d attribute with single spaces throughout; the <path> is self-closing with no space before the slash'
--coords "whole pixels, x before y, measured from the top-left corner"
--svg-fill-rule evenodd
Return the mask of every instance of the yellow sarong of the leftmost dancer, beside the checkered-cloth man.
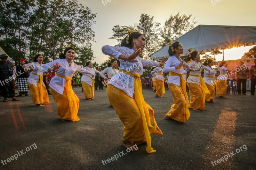
<path id="1" fill-rule="evenodd" d="M 39 82 L 39 81 L 37 82 L 37 86 L 28 83 L 28 86 L 29 86 L 29 89 L 31 92 L 32 101 L 33 101 L 34 105 L 38 105 L 41 103 L 49 103 L 49 97 L 48 97 L 47 90 L 43 86 L 43 89 L 41 92 L 40 84 L 41 84 L 41 82 Z M 43 99 L 40 99 L 41 96 L 43 96 Z M 44 105 L 40 105 L 40 106 L 44 106 Z"/>

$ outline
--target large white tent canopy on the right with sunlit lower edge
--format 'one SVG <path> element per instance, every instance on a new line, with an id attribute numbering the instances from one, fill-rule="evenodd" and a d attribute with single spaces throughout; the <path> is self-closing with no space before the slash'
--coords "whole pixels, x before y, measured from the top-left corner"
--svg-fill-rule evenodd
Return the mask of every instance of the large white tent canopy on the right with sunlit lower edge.
<path id="1" fill-rule="evenodd" d="M 184 54 L 188 48 L 199 52 L 217 51 L 241 46 L 256 45 L 256 26 L 213 26 L 198 25 L 175 41 L 179 41 Z M 169 44 L 151 55 L 152 59 L 169 57 Z"/>

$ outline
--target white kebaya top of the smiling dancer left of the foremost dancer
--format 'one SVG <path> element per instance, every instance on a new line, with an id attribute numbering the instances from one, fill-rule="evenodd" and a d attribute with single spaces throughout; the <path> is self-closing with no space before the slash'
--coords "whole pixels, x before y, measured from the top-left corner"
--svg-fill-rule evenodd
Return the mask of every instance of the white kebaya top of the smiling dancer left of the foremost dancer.
<path id="1" fill-rule="evenodd" d="M 72 62 L 69 67 L 68 61 L 66 59 L 57 59 L 50 63 L 44 64 L 43 65 L 44 70 L 47 71 L 49 68 L 53 68 L 53 64 L 60 64 L 60 70 L 57 71 L 57 74 L 64 76 L 64 77 L 73 78 L 74 73 L 76 71 L 79 73 L 82 73 L 82 74 L 86 74 L 90 77 L 93 76 L 92 72 L 81 68 L 80 66 L 76 65 L 74 62 Z M 68 82 L 68 83 L 70 83 L 70 82 Z M 55 90 L 56 92 L 58 92 L 62 95 L 64 87 L 66 86 L 66 80 L 59 76 L 54 76 L 51 79 L 49 86 L 53 90 Z"/>

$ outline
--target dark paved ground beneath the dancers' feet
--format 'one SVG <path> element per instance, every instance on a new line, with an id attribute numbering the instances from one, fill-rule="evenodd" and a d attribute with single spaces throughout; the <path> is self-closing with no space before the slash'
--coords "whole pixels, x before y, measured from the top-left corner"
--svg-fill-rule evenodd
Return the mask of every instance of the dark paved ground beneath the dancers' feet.
<path id="1" fill-rule="evenodd" d="M 190 110 L 181 125 L 163 119 L 173 103 L 170 91 L 160 99 L 143 90 L 163 135 L 151 135 L 156 153 L 140 145 L 140 151 L 125 154 L 123 124 L 108 107 L 106 90 L 88 101 L 80 87 L 73 89 L 80 99 L 78 122 L 60 121 L 52 96 L 44 107 L 33 107 L 31 97 L 0 102 L 0 160 L 6 160 L 0 169 L 256 169 L 256 96 L 250 92 L 217 98 L 204 111 Z M 121 152 L 125 155 L 111 160 Z M 224 161 L 215 165 L 217 159 Z"/>

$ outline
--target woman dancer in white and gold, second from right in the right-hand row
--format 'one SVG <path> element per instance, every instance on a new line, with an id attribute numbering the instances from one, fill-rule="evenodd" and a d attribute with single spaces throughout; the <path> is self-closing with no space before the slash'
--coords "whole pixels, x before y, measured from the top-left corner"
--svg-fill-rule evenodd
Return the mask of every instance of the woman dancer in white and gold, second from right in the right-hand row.
<path id="1" fill-rule="evenodd" d="M 212 69 L 213 66 L 213 60 L 212 59 L 206 59 L 204 61 L 204 66 L 207 66 L 208 69 L 210 69 L 210 73 L 208 71 L 204 71 L 204 83 L 207 86 L 208 90 L 210 91 L 210 94 L 207 94 L 205 96 L 206 102 L 216 103 L 214 99 L 215 94 L 215 74 L 217 73 L 216 70 Z"/>

